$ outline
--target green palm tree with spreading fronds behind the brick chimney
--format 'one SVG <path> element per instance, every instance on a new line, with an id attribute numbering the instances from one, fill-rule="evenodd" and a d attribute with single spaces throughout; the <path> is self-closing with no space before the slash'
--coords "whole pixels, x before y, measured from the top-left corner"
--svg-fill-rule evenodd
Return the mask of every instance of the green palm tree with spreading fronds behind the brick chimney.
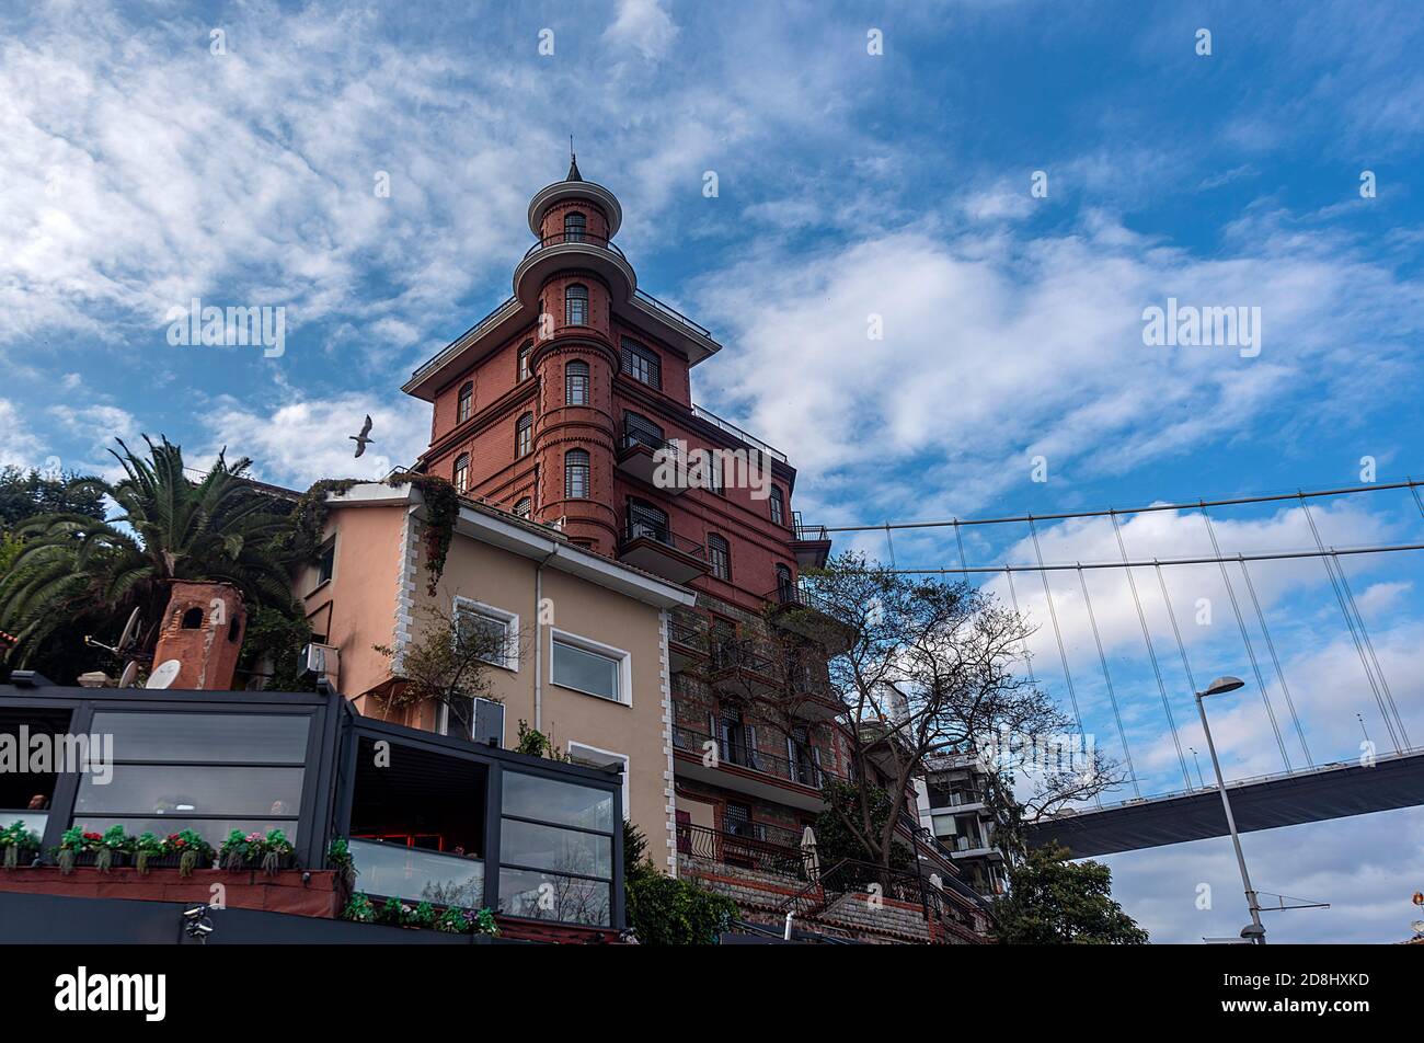
<path id="1" fill-rule="evenodd" d="M 157 621 L 172 580 L 215 580 L 242 591 L 249 607 L 293 613 L 290 522 L 248 479 L 246 457 L 222 453 L 199 480 L 184 474 L 182 449 L 147 435 L 150 460 L 121 439 L 110 450 L 124 477 L 110 484 L 77 479 L 104 493 L 118 514 L 47 514 L 16 529 L 23 544 L 0 577 L 0 630 L 14 634 L 27 663 L 58 627 L 80 620 L 115 626 L 132 608 Z M 142 647 L 157 638 L 157 626 Z"/>

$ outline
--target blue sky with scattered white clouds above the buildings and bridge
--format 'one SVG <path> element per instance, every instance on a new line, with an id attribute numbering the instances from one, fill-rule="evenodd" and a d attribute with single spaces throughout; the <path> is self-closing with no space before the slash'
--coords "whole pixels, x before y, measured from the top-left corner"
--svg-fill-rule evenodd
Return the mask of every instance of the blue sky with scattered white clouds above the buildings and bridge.
<path id="1" fill-rule="evenodd" d="M 639 285 L 726 345 L 695 370 L 695 398 L 792 456 L 807 519 L 1319 489 L 1356 484 L 1366 456 L 1380 480 L 1424 472 L 1413 4 L 40 3 L 0 17 L 0 462 L 107 470 L 110 439 L 138 432 L 199 465 L 228 446 L 296 486 L 409 462 L 429 409 L 399 385 L 508 295 L 527 201 L 562 175 L 572 133 L 585 177 L 624 204 Z M 883 54 L 867 54 L 871 28 Z M 382 171 L 389 197 L 373 191 Z M 167 315 L 194 296 L 283 306 L 285 353 L 171 346 Z M 1143 345 L 1143 309 L 1169 296 L 1260 308 L 1260 353 Z M 376 445 L 357 466 L 346 435 L 367 412 Z M 1424 533 L 1407 494 L 1313 510 L 1339 546 Z M 1313 539 L 1290 504 L 1213 517 L 1230 553 Z M 1021 527 L 965 536 L 974 563 L 1031 560 Z M 1040 536 L 1051 561 L 1116 550 L 1099 522 Z M 1134 557 L 1173 557 L 1205 530 L 1163 513 L 1124 536 Z M 890 556 L 883 536 L 842 546 Z M 944 530 L 896 534 L 893 550 L 901 566 L 957 559 Z M 1424 741 L 1418 556 L 1346 567 Z M 1252 680 L 1218 711 L 1227 772 L 1280 769 L 1219 573 L 1165 571 L 1198 680 Z M 1263 563 L 1252 580 L 1314 759 L 1357 755 L 1356 712 L 1384 748 L 1320 563 Z M 1142 788 L 1180 787 L 1131 591 L 1121 573 L 1088 583 Z M 1156 577 L 1138 583 L 1182 742 L 1200 749 Z M 1017 586 L 1035 671 L 1067 697 L 1042 587 Z M 1077 576 L 1051 593 L 1085 728 L 1118 748 Z M 1195 621 L 1202 598 L 1210 624 Z M 1246 845 L 1262 889 L 1336 903 L 1282 915 L 1277 938 L 1407 932 L 1424 812 Z M 1161 940 L 1240 926 L 1225 842 L 1111 862 Z M 1199 882 L 1216 912 L 1195 909 Z"/>

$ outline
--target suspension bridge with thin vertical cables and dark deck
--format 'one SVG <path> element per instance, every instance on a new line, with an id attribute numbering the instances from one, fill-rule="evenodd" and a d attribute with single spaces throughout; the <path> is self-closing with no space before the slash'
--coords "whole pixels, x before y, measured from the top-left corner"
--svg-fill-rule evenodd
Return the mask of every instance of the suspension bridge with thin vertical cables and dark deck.
<path id="1" fill-rule="evenodd" d="M 1041 606 L 1041 611 L 1031 611 L 1028 616 L 1040 626 L 1047 623 L 1047 627 L 1042 627 L 1047 653 L 1031 651 L 1025 641 L 1024 670 L 1032 683 L 1067 697 L 1067 707 L 1071 708 L 1079 732 L 1088 732 L 1084 704 L 1091 702 L 1099 708 L 1098 720 L 1108 724 L 1114 732 L 1111 741 L 1104 745 L 1114 749 L 1114 758 L 1121 751 L 1121 767 L 1125 768 L 1122 785 L 1132 791 L 1131 796 L 1116 802 L 1106 802 L 1099 794 L 1092 802 L 1064 808 L 1030 829 L 1031 844 L 1055 841 L 1067 845 L 1075 858 L 1084 858 L 1225 836 L 1227 832 L 1218 787 L 1209 785 L 1202 775 L 1198 751 L 1190 745 L 1198 734 L 1192 697 L 1199 691 L 1193 655 L 1198 658 L 1205 655 L 1200 654 L 1200 648 L 1192 647 L 1193 641 L 1189 637 L 1198 637 L 1196 634 L 1183 635 L 1178 608 L 1185 584 L 1178 577 L 1188 574 L 1193 566 L 1213 573 L 1212 590 L 1216 596 L 1225 594 L 1222 600 L 1229 607 L 1229 611 L 1223 613 L 1225 635 L 1219 630 L 1213 633 L 1209 668 L 1222 673 L 1235 668 L 1243 677 L 1249 677 L 1255 683 L 1255 695 L 1260 704 L 1260 715 L 1256 720 L 1269 725 L 1262 728 L 1265 735 L 1262 741 L 1243 742 L 1240 715 L 1245 707 L 1236 704 L 1233 711 L 1237 727 L 1232 730 L 1235 732 L 1232 738 L 1249 748 L 1232 749 L 1232 740 L 1227 740 L 1227 747 L 1222 752 L 1232 755 L 1240 764 L 1259 754 L 1265 742 L 1279 754 L 1279 771 L 1253 772 L 1249 777 L 1226 781 L 1237 828 L 1250 832 L 1424 804 L 1424 748 L 1411 744 L 1405 714 L 1400 710 L 1391 678 L 1366 624 L 1366 613 L 1360 608 L 1360 597 L 1347 574 L 1347 571 L 1358 573 L 1383 560 L 1396 560 L 1397 556 L 1404 556 L 1398 559 L 1401 561 L 1418 561 L 1415 554 L 1424 550 L 1424 540 L 1339 546 L 1326 541 L 1321 536 L 1321 519 L 1317 519 L 1321 507 L 1329 517 L 1331 503 L 1339 507 L 1357 497 L 1371 497 L 1360 502 L 1378 503 L 1378 497 L 1391 490 L 1397 494 L 1407 493 L 1408 499 L 1401 500 L 1405 516 L 1417 513 L 1424 519 L 1421 486 L 1424 482 L 1405 479 L 1309 492 L 1203 499 L 1190 503 L 1153 503 L 1128 509 L 826 526 L 823 531 L 826 534 L 883 531 L 890 550 L 891 570 L 896 573 L 957 577 L 994 584 L 1000 593 L 1007 593 L 1014 611 L 1021 614 L 1024 614 L 1021 596 Z M 1250 523 L 1294 526 L 1309 543 L 1289 549 L 1252 546 L 1249 550 L 1223 551 L 1218 527 L 1242 524 L 1239 519 L 1223 517 L 1227 510 L 1272 504 L 1277 510 L 1274 516 L 1252 519 Z M 1193 537 L 1199 551 L 1134 557 L 1129 553 L 1125 530 L 1134 519 L 1153 514 L 1168 514 L 1178 529 L 1176 537 L 1182 533 L 1180 523 L 1193 520 L 1199 524 Z M 1102 560 L 1092 561 L 1045 560 L 1044 543 L 1049 537 L 1064 543 L 1068 529 L 1072 529 L 1072 534 L 1081 534 L 1087 526 L 1096 526 L 1098 536 L 1115 553 L 1109 551 Z M 971 563 L 965 550 L 965 534 L 977 533 L 980 527 L 1001 529 L 1011 536 L 1017 533 L 1018 539 L 1011 539 L 1008 546 L 1025 557 L 1031 554 L 1032 560 L 1011 563 L 1000 559 L 987 564 Z M 954 533 L 957 566 L 901 569 L 894 563 L 893 533 L 944 529 Z M 978 540 L 978 550 L 987 543 L 990 541 Z M 1323 576 L 1299 571 L 1313 567 L 1310 566 L 1313 561 L 1320 563 Z M 1297 587 L 1319 586 L 1324 591 L 1324 606 L 1303 606 L 1297 600 L 1289 613 L 1283 613 L 1279 604 L 1272 604 L 1269 587 L 1266 587 L 1267 594 L 1262 596 L 1262 570 L 1287 563 L 1296 563 Z M 1351 566 L 1350 570 L 1347 563 Z M 1094 584 L 1089 584 L 1089 576 L 1098 577 Z M 1196 576 L 1199 577 L 1200 571 Z M 1015 577 L 1020 581 L 1015 583 Z M 1027 590 L 1021 588 L 1024 580 L 1028 580 Z M 1105 583 L 1116 586 L 1105 591 Z M 1098 608 L 1092 586 L 1098 587 Z M 1178 587 L 1178 604 L 1173 604 L 1173 586 Z M 1407 588 L 1407 584 L 1393 586 Z M 1041 600 L 1034 587 L 1041 588 Z M 1202 590 L 1199 578 L 1196 590 Z M 1104 593 L 1121 601 L 1115 604 L 1122 610 L 1115 620 L 1116 633 L 1105 633 L 1109 627 L 1101 610 Z M 1273 613 L 1274 623 L 1270 620 Z M 1333 624 L 1327 624 L 1329 617 L 1334 618 Z M 1139 641 L 1136 654 L 1125 648 L 1124 627 L 1135 631 L 1132 640 Z M 1077 645 L 1072 641 L 1075 628 L 1081 634 Z M 1297 638 L 1303 630 L 1309 645 L 1307 654 L 1294 661 L 1283 654 L 1283 643 L 1279 638 L 1282 630 L 1294 630 Z M 1048 634 L 1051 643 L 1047 641 Z M 1297 692 L 1292 690 L 1286 665 L 1292 664 L 1300 670 L 1303 661 L 1309 664 L 1309 653 L 1317 653 L 1334 640 L 1339 640 L 1339 647 L 1353 661 L 1353 678 L 1333 687 L 1329 698 L 1316 701 L 1317 718 L 1323 715 L 1330 720 L 1314 720 L 1316 727 L 1312 728 L 1312 722 L 1304 720 L 1304 707 L 1299 705 Z M 1035 658 L 1040 660 L 1037 671 Z M 1044 658 L 1051 663 L 1047 671 L 1042 665 Z M 1396 671 L 1400 673 L 1398 667 Z M 1418 667 L 1414 664 L 1407 684 L 1417 685 L 1418 674 Z M 1306 690 L 1319 681 L 1320 678 L 1307 677 Z M 1153 727 L 1143 724 L 1146 704 L 1142 695 L 1161 708 L 1161 718 Z M 1356 712 L 1356 705 L 1363 712 Z M 1414 711 L 1417 714 L 1418 708 Z M 1222 711 L 1212 705 L 1212 712 Z M 1341 757 L 1339 735 L 1354 724 L 1341 720 L 1347 715 L 1358 721 L 1364 741 L 1358 749 L 1350 749 L 1350 755 Z M 1378 742 L 1370 738 L 1366 715 L 1378 735 Z M 1183 731 L 1188 732 L 1185 741 Z M 1313 752 L 1312 735 L 1317 744 L 1324 738 L 1326 742 L 1321 745 L 1330 745 L 1329 740 L 1334 738 L 1333 752 L 1320 749 Z M 1151 748 L 1146 751 L 1146 758 L 1141 749 L 1135 758 L 1134 741 L 1141 742 L 1143 738 L 1149 740 Z M 1188 752 L 1198 767 L 1195 782 L 1188 765 Z M 1141 772 L 1139 762 L 1143 759 L 1149 768 Z M 1165 777 L 1175 774 L 1173 767 L 1180 771 L 1180 788 L 1163 785 Z M 1153 785 L 1158 787 L 1156 791 L 1152 789 Z"/>

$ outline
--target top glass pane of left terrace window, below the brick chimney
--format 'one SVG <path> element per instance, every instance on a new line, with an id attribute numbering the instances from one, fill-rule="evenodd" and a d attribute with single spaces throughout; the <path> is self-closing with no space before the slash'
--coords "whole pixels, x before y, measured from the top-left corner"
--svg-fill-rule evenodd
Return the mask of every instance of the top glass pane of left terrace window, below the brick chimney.
<path id="1" fill-rule="evenodd" d="M 115 761 L 306 762 L 308 714 L 94 714 Z"/>

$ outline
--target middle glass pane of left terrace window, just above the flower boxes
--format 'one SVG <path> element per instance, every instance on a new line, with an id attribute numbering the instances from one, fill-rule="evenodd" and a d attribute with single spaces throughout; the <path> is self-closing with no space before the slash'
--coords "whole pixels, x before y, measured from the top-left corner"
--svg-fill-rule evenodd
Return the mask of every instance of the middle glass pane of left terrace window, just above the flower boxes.
<path id="1" fill-rule="evenodd" d="M 131 815 L 296 815 L 303 768 L 118 764 L 108 785 L 80 779 L 74 811 Z"/>

